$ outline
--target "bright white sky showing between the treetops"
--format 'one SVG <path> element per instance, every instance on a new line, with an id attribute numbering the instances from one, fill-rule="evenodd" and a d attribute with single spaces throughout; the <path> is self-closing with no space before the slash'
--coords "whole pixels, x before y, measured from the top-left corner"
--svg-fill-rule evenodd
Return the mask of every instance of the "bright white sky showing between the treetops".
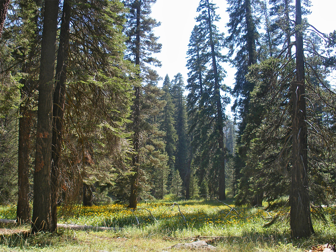
<path id="1" fill-rule="evenodd" d="M 229 21 L 226 1 L 213 0 L 213 3 L 218 7 L 216 13 L 221 17 L 216 25 L 220 32 L 226 32 L 225 26 Z M 156 54 L 162 62 L 162 67 L 157 68 L 162 78 L 168 74 L 173 79 L 174 75 L 181 73 L 186 84 L 186 51 L 191 32 L 196 25 L 198 4 L 199 0 L 157 0 L 152 7 L 152 17 L 161 22 L 161 26 L 155 29 L 155 35 L 160 37 L 159 42 L 162 43 L 161 53 Z M 311 4 L 309 23 L 324 33 L 336 30 L 336 0 L 311 0 Z M 224 82 L 232 86 L 235 70 L 229 65 L 223 67 L 227 71 Z"/>

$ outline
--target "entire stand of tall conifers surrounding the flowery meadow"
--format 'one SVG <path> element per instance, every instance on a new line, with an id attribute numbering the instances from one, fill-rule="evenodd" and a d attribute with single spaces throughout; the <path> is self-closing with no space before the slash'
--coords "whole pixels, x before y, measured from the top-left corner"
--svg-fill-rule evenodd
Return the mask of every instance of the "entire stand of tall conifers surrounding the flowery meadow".
<path id="1" fill-rule="evenodd" d="M 267 201 L 265 226 L 289 217 L 292 238 L 314 233 L 336 201 L 336 32 L 302 18 L 309 0 L 227 2 L 225 38 L 200 0 L 185 90 L 181 73 L 158 86 L 156 0 L 1 1 L 0 203 L 17 200 L 20 224 L 53 233 L 57 204 L 134 210 L 185 190 Z"/>

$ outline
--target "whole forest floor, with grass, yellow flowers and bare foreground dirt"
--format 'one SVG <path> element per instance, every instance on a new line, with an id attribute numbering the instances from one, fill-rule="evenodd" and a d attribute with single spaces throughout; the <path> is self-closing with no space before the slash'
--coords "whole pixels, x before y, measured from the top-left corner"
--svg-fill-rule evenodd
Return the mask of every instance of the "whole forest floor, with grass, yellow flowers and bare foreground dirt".
<path id="1" fill-rule="evenodd" d="M 289 236 L 286 208 L 279 211 L 268 211 L 264 207 L 231 209 L 220 202 L 210 200 L 176 203 L 144 202 L 139 204 L 139 209 L 135 212 L 121 204 L 60 207 L 59 223 L 110 226 L 114 227 L 114 230 L 97 232 L 59 227 L 57 234 L 39 233 L 29 236 L 29 226 L 2 224 L 0 252 L 294 252 L 309 251 L 312 246 L 319 248 L 319 244 L 336 243 L 335 207 L 323 209 L 325 221 L 314 219 L 316 234 L 308 239 L 293 241 Z M 232 204 L 229 201 L 225 203 Z M 269 227 L 263 227 L 276 215 L 279 216 L 278 221 Z M 0 218 L 14 219 L 15 207 L 1 207 Z M 175 246 L 198 240 L 205 241 L 215 248 Z"/>

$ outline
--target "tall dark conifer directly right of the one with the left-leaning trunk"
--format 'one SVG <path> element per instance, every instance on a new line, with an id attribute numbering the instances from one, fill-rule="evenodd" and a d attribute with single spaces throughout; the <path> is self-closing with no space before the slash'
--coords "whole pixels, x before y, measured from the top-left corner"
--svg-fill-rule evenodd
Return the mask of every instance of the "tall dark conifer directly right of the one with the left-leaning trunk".
<path id="1" fill-rule="evenodd" d="M 246 126 L 249 123 L 249 120 L 259 120 L 258 117 L 248 117 L 250 113 L 252 114 L 249 103 L 255 83 L 248 81 L 246 75 L 248 74 L 248 67 L 257 63 L 256 47 L 259 34 L 256 27 L 260 23 L 260 20 L 256 15 L 257 13 L 253 12 L 253 10 L 257 9 L 259 1 L 229 0 L 228 3 L 230 5 L 228 8 L 230 21 L 227 25 L 229 27 L 230 35 L 227 38 L 227 41 L 230 45 L 231 55 L 235 52 L 235 48 L 239 48 L 239 50 L 236 51 L 236 56 L 233 60 L 237 72 L 235 77 L 236 83 L 233 89 L 233 95 L 236 97 L 236 100 L 232 109 L 234 111 L 239 111 L 241 121 L 238 125 L 238 153 L 236 157 L 237 163 L 235 164 L 237 170 L 236 176 L 237 178 L 246 176 L 246 179 L 243 179 L 246 183 L 255 184 L 248 179 L 248 171 L 244 170 L 246 165 L 245 162 L 247 160 L 246 155 L 248 154 L 246 145 L 251 141 L 251 138 L 249 138 L 249 133 L 251 132 L 246 132 Z M 246 132 L 246 139 L 242 140 L 244 132 Z M 242 189 L 250 186 L 245 182 L 240 185 Z M 259 188 L 260 186 L 257 185 L 257 187 Z M 251 205 L 261 205 L 263 192 L 252 190 L 252 193 L 253 200 L 249 203 Z"/>

